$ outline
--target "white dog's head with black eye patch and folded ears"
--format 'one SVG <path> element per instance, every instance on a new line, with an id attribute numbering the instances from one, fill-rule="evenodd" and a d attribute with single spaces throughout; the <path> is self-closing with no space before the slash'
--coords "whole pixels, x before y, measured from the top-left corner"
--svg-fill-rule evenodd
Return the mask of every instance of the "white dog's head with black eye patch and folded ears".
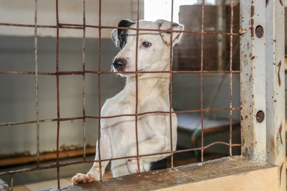
<path id="1" fill-rule="evenodd" d="M 136 22 L 121 20 L 118 27 L 136 28 Z M 171 22 L 166 20 L 139 21 L 140 29 L 170 30 Z M 183 25 L 173 23 L 173 30 L 182 31 Z M 172 45 L 179 42 L 180 32 L 173 32 Z M 112 39 L 120 52 L 114 58 L 112 68 L 115 72 L 136 71 L 136 30 L 114 29 Z M 139 31 L 138 37 L 138 71 L 165 71 L 169 69 L 170 32 Z M 135 76 L 135 74 L 121 74 Z"/>

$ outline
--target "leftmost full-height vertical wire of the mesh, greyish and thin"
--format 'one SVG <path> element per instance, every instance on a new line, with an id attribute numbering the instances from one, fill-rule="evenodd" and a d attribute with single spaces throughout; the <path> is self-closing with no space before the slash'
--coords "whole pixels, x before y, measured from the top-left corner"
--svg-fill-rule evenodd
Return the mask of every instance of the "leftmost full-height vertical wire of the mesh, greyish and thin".
<path id="1" fill-rule="evenodd" d="M 39 100 L 38 100 L 38 37 L 37 37 L 37 3 L 38 1 L 35 0 L 35 34 L 34 34 L 34 41 L 35 41 L 35 88 L 36 88 L 36 117 L 37 117 L 37 166 L 40 165 L 40 152 L 39 152 Z"/>

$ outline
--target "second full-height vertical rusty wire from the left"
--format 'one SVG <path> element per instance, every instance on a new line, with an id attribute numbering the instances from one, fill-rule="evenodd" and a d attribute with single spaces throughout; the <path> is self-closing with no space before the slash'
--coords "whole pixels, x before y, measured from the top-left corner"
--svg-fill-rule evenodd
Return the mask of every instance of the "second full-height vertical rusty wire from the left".
<path id="1" fill-rule="evenodd" d="M 56 0 L 57 19 L 57 47 L 56 47 L 56 83 L 57 83 L 57 165 L 59 164 L 59 133 L 60 133 L 60 96 L 59 96 L 59 12 L 58 0 Z M 57 166 L 58 189 L 60 189 L 60 168 Z"/>

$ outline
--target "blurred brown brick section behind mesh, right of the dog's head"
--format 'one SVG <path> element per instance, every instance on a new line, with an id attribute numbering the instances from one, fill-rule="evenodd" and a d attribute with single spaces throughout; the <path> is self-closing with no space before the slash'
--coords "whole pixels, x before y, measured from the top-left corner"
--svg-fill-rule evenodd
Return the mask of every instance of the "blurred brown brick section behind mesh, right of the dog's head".
<path id="1" fill-rule="evenodd" d="M 230 33 L 231 8 L 226 6 L 226 29 L 223 32 Z M 239 6 L 234 6 L 233 33 L 239 32 Z M 201 31 L 202 5 L 180 6 L 179 22 L 185 26 L 185 30 Z M 204 30 L 218 32 L 217 6 L 205 5 Z M 230 35 L 226 38 L 226 50 L 224 66 L 230 62 Z M 205 34 L 203 44 L 203 70 L 218 70 L 217 64 L 217 34 Z M 174 47 L 175 70 L 200 70 L 201 63 L 201 34 L 185 33 L 179 44 Z M 239 36 L 233 36 L 233 70 L 239 70 Z M 228 69 L 229 70 L 229 69 Z"/>

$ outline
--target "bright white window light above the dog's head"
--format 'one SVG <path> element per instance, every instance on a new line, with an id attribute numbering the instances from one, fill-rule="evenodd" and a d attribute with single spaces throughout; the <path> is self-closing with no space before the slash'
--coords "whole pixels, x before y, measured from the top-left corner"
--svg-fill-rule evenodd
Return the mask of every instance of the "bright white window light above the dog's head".
<path id="1" fill-rule="evenodd" d="M 194 5 L 196 0 L 173 1 L 173 22 L 178 23 L 180 5 Z M 171 21 L 171 0 L 144 0 L 144 20 L 156 21 L 165 19 Z"/>

